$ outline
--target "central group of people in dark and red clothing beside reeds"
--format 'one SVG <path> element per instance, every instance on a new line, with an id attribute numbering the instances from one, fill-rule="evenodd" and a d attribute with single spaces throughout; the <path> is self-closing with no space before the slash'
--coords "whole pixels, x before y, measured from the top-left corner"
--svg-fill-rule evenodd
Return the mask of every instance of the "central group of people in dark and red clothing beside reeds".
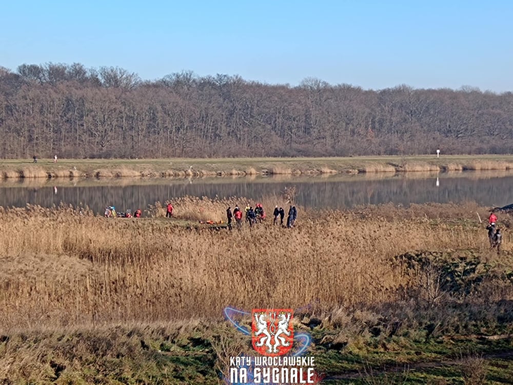
<path id="1" fill-rule="evenodd" d="M 274 207 L 274 211 L 272 213 L 274 219 L 272 221 L 273 225 L 278 224 L 278 217 L 280 217 L 280 225 L 284 226 L 283 219 L 285 218 L 285 210 L 283 207 L 278 208 L 278 206 Z M 231 207 L 228 207 L 226 209 L 226 218 L 228 223 L 228 229 L 232 229 L 232 221 L 233 218 L 235 218 L 235 224 L 237 229 L 242 228 L 242 217 L 245 217 L 246 224 L 249 225 L 249 227 L 252 227 L 253 225 L 257 223 L 262 223 L 266 218 L 266 213 L 264 208 L 262 207 L 261 203 L 258 203 L 254 208 L 250 206 L 249 204 L 246 205 L 244 208 L 244 214 L 242 210 L 239 208 L 238 205 L 235 206 L 233 209 L 233 212 L 231 210 Z M 295 208 L 295 206 L 290 205 L 289 211 L 288 211 L 288 217 L 287 217 L 287 227 L 293 227 L 296 218 L 298 217 L 298 210 Z"/>

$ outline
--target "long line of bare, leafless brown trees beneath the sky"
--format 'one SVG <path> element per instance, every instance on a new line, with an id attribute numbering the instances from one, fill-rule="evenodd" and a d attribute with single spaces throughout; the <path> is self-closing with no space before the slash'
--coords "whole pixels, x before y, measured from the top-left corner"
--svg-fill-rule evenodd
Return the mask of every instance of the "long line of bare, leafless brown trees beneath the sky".
<path id="1" fill-rule="evenodd" d="M 4 159 L 511 153 L 513 93 L 23 64 L 0 67 L 0 135 Z"/>

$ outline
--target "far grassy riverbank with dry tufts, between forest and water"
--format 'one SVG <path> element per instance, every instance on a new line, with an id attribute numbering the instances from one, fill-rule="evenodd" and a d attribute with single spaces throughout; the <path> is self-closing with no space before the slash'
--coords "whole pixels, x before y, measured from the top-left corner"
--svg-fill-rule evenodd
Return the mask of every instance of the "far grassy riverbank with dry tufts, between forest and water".
<path id="1" fill-rule="evenodd" d="M 513 156 L 454 155 L 437 158 L 219 158 L 219 159 L 40 159 L 0 162 L 0 178 L 170 178 L 252 175 L 362 174 L 456 170 L 510 170 Z"/>

